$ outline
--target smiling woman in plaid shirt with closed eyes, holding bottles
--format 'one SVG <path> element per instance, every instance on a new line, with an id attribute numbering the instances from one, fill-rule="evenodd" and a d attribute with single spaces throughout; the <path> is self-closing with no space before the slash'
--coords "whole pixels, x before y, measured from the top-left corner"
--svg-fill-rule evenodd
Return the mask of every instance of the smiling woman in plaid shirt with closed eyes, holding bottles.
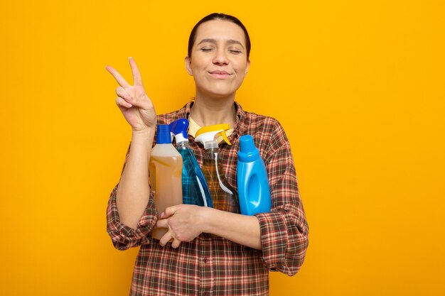
<path id="1" fill-rule="evenodd" d="M 131 295 L 268 295 L 269 270 L 294 275 L 304 261 L 308 225 L 289 141 L 277 120 L 244 111 L 235 102 L 249 70 L 249 54 L 249 35 L 237 18 L 222 13 L 203 18 L 191 32 L 185 61 L 195 80 L 195 100 L 158 116 L 132 58 L 134 85 L 107 66 L 119 83 L 117 106 L 132 126 L 122 176 L 107 208 L 114 246 L 141 246 Z M 179 118 L 191 123 L 189 141 L 201 164 L 204 148 L 195 143 L 194 132 L 230 124 L 232 146 L 222 142 L 218 149 L 235 189 L 239 138 L 253 136 L 267 166 L 271 212 L 245 216 L 191 204 L 156 212 L 147 182 L 156 125 Z M 151 238 L 154 226 L 168 228 L 160 241 Z"/>

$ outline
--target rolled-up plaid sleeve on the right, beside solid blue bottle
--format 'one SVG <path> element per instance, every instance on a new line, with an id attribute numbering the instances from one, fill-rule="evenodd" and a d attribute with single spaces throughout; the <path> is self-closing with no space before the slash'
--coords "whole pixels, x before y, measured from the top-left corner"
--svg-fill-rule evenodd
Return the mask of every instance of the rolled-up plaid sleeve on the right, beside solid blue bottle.
<path id="1" fill-rule="evenodd" d="M 299 195 L 294 160 L 282 126 L 275 121 L 265 159 L 272 210 L 256 214 L 261 229 L 262 258 L 269 270 L 294 275 L 308 246 L 308 224 Z"/>

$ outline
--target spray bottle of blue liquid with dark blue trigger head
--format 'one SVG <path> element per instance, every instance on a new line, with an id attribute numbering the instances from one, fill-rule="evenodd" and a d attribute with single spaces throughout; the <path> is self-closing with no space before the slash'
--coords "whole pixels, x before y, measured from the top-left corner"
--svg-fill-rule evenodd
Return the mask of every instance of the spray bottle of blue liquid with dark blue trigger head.
<path id="1" fill-rule="evenodd" d="M 212 197 L 207 182 L 193 150 L 188 143 L 188 121 L 178 119 L 171 124 L 171 133 L 175 136 L 176 149 L 183 159 L 182 168 L 182 198 L 183 204 L 196 204 L 203 207 L 213 207 Z"/>

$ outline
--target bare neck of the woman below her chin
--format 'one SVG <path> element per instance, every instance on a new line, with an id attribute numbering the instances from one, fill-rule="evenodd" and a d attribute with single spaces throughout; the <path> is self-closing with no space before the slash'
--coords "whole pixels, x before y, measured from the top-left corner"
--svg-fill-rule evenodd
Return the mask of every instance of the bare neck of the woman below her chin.
<path id="1" fill-rule="evenodd" d="M 196 96 L 191 116 L 199 126 L 229 124 L 235 126 L 235 96 L 227 99 L 210 99 Z"/>

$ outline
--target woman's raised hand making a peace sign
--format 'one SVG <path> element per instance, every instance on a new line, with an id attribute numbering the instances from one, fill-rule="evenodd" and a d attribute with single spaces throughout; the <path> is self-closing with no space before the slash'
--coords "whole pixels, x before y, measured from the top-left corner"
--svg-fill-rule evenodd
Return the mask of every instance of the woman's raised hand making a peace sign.
<path id="1" fill-rule="evenodd" d="M 129 57 L 133 72 L 134 85 L 130 85 L 113 67 L 107 66 L 108 72 L 119 83 L 116 88 L 116 104 L 132 126 L 133 131 L 145 131 L 156 127 L 156 111 L 142 84 L 141 73 L 132 57 Z"/>

